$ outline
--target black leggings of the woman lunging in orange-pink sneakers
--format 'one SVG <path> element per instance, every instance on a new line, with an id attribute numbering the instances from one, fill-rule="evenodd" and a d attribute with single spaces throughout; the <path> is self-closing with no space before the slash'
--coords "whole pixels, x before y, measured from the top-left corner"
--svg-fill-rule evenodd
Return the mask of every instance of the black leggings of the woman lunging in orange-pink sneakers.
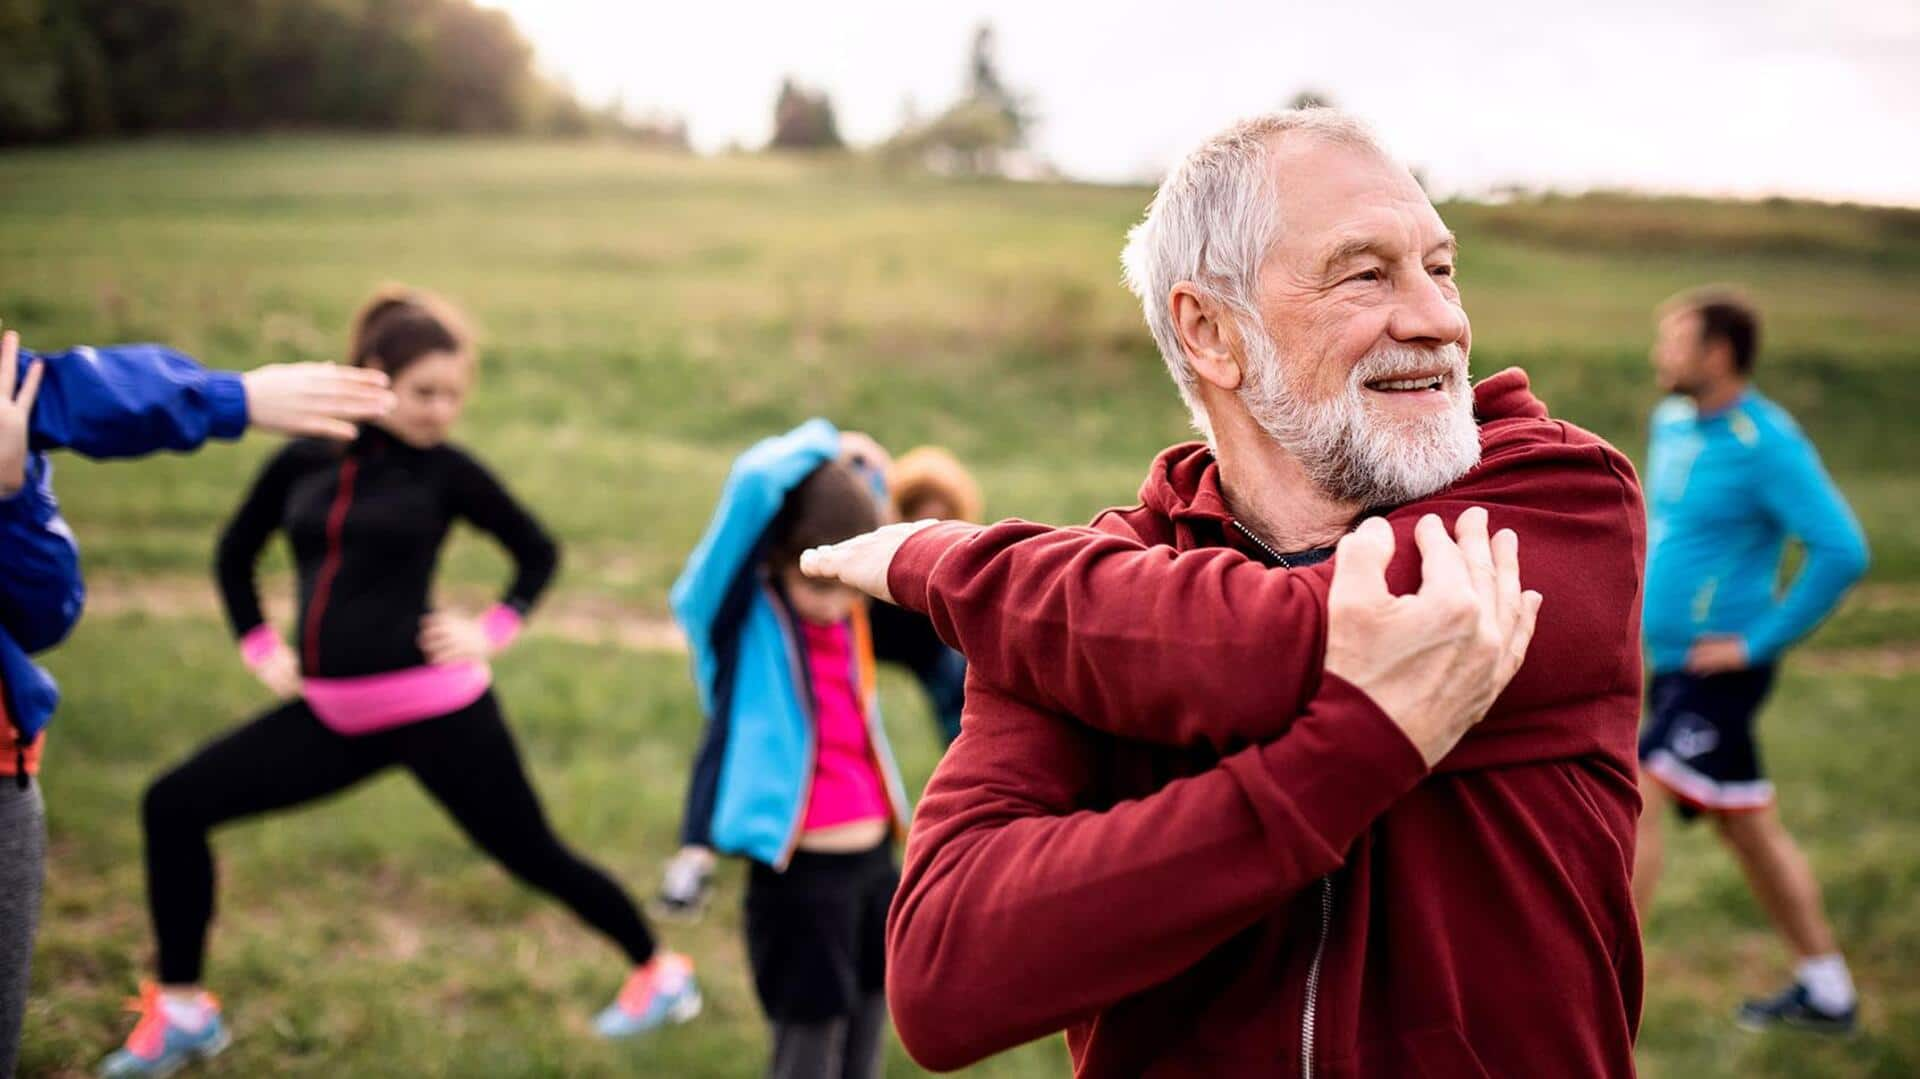
<path id="1" fill-rule="evenodd" d="M 634 900 L 568 851 L 540 808 L 493 693 L 459 712 L 348 737 L 290 701 L 200 747 L 146 791 L 146 895 L 159 939 L 159 981 L 194 985 L 213 920 L 207 831 L 244 816 L 334 795 L 407 766 L 482 851 L 612 937 L 628 958 L 653 958 Z"/>

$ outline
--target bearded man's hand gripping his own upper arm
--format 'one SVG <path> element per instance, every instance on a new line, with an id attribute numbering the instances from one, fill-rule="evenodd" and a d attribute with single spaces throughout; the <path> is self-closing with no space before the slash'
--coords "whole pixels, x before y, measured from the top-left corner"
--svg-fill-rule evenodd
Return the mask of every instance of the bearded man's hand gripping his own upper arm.
<path id="1" fill-rule="evenodd" d="M 1453 534 L 1438 516 L 1423 516 L 1413 530 L 1421 589 L 1392 595 L 1394 530 L 1369 518 L 1340 540 L 1327 593 L 1327 672 L 1367 693 L 1428 768 L 1486 718 L 1521 670 L 1542 599 L 1521 591 L 1513 530 L 1488 540 L 1486 511 L 1473 507 Z"/>

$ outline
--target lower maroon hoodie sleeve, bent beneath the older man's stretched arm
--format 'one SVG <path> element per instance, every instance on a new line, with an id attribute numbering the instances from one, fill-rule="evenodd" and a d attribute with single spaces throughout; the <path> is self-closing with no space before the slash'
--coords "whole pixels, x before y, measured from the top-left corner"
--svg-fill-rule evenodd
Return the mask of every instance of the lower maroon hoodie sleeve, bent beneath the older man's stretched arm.
<path id="1" fill-rule="evenodd" d="M 889 1012 L 914 1060 L 939 1071 L 1200 962 L 1338 868 L 1427 774 L 1338 678 L 1286 737 L 1108 808 L 1087 808 L 1102 735 L 977 680 L 966 710 L 887 918 Z"/>

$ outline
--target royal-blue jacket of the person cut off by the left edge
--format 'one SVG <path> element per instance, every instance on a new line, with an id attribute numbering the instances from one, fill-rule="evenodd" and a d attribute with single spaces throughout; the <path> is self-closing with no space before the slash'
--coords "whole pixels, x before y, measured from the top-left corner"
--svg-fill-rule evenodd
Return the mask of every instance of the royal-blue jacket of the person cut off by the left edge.
<path id="1" fill-rule="evenodd" d="M 60 703 L 54 678 L 29 657 L 65 639 L 86 595 L 46 451 L 140 457 L 196 449 L 209 438 L 240 438 L 248 426 L 238 374 L 207 371 L 161 346 L 75 348 L 52 355 L 21 349 L 21 380 L 33 361 L 44 363 L 46 374 L 29 426 L 27 482 L 0 499 L 0 682 L 21 743 L 46 728 Z"/>

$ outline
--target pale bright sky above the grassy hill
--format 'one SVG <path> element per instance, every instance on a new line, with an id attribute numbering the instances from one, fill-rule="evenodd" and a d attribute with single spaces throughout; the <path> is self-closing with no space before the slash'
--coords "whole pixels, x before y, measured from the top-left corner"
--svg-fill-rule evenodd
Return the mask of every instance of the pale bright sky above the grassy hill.
<path id="1" fill-rule="evenodd" d="M 851 142 L 879 140 L 908 100 L 925 113 L 960 92 L 989 19 L 1002 79 L 1041 117 L 1035 150 L 1075 177 L 1154 179 L 1233 117 L 1313 86 L 1440 192 L 1920 205 L 1920 0 L 486 2 L 515 15 L 541 69 L 593 102 L 684 115 L 701 150 L 764 142 L 789 73 L 833 96 Z"/>

